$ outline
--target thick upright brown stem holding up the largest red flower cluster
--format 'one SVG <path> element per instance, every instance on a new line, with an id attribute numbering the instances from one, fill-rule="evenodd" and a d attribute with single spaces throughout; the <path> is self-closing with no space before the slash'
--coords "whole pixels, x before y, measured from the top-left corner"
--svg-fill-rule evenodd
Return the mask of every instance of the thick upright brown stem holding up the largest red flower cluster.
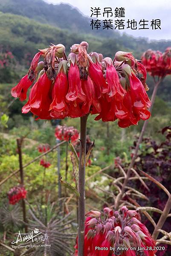
<path id="1" fill-rule="evenodd" d="M 87 117 L 80 118 L 80 156 L 79 156 L 79 178 L 78 190 L 78 256 L 84 255 L 84 223 L 85 223 L 85 156 L 86 156 L 86 134 Z"/>

